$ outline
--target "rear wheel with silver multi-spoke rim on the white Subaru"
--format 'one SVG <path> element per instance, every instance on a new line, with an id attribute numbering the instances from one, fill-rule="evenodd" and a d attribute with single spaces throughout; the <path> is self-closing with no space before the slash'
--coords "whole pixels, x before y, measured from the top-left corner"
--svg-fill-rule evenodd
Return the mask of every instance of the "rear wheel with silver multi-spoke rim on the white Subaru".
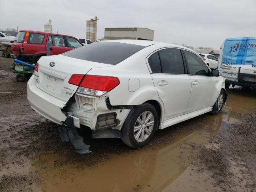
<path id="1" fill-rule="evenodd" d="M 158 125 L 156 109 L 149 103 L 130 111 L 122 126 L 122 141 L 130 147 L 145 146 L 154 136 Z"/>

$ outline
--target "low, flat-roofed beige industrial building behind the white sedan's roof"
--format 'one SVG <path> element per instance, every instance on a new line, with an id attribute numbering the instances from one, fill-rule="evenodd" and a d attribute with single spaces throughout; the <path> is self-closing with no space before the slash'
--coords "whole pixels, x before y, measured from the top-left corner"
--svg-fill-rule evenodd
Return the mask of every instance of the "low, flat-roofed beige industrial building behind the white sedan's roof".
<path id="1" fill-rule="evenodd" d="M 105 28 L 105 40 L 114 39 L 139 39 L 139 40 L 154 40 L 154 30 L 140 27 L 130 28 Z"/>

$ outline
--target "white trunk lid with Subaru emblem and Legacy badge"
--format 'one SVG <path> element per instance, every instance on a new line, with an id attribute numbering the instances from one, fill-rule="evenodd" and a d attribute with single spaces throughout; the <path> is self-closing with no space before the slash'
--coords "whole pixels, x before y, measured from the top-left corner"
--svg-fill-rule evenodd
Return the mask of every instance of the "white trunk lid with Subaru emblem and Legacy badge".
<path id="1" fill-rule="evenodd" d="M 78 88 L 68 83 L 72 74 L 86 74 L 91 68 L 112 66 L 63 55 L 43 56 L 38 60 L 38 64 L 38 74 L 35 74 L 36 86 L 64 101 L 68 101 Z"/>

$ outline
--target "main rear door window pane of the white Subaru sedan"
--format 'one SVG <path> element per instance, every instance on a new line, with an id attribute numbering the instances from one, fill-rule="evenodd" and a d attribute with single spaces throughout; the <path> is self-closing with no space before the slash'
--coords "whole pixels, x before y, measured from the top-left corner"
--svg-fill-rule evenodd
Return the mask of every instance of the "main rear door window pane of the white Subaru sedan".
<path id="1" fill-rule="evenodd" d="M 162 49 L 158 51 L 162 73 L 184 74 L 184 64 L 179 49 Z"/>

